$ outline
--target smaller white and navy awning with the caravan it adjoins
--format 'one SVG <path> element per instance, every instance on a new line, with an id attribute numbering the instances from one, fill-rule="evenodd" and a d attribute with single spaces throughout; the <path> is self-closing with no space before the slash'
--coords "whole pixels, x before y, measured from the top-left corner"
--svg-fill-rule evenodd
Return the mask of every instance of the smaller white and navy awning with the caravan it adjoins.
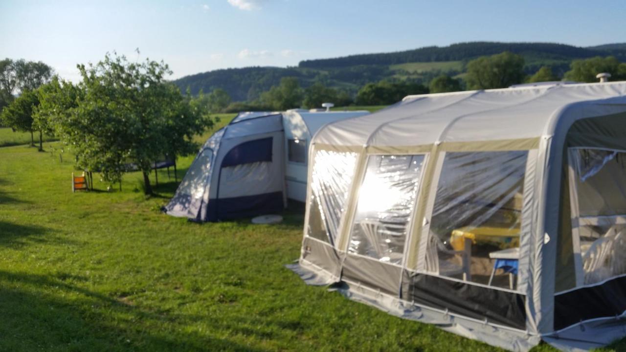
<path id="1" fill-rule="evenodd" d="M 367 111 L 239 113 L 200 148 L 165 212 L 218 221 L 279 212 L 304 202 L 307 148 L 329 122 Z"/>

